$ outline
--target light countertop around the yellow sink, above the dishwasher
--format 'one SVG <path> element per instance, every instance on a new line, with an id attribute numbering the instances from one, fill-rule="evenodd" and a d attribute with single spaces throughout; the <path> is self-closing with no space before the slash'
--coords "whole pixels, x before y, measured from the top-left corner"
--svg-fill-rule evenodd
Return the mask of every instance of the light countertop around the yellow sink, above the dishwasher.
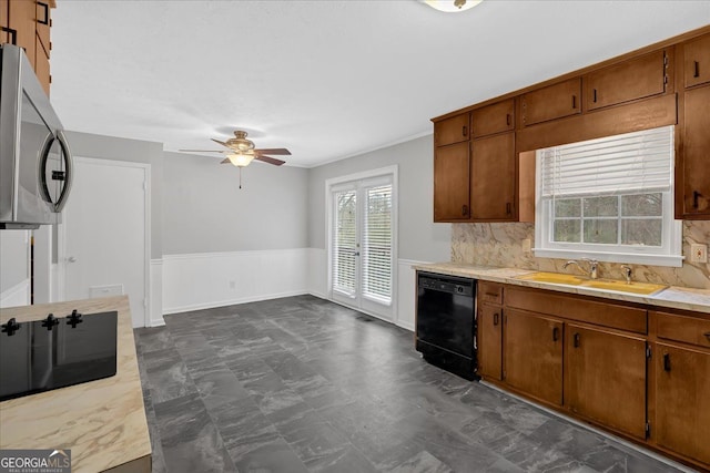
<path id="1" fill-rule="evenodd" d="M 580 286 L 561 286 L 549 282 L 515 279 L 518 276 L 537 273 L 531 269 L 496 268 L 460 263 L 433 263 L 427 265 L 414 265 L 413 268 L 440 275 L 462 276 L 493 282 L 535 287 L 539 289 L 556 290 L 559 292 L 579 294 L 584 296 L 602 297 L 605 299 L 623 300 L 627 302 L 647 304 L 657 307 L 710 313 L 710 290 L 707 289 L 691 289 L 670 286 L 655 295 L 640 296 L 636 294 L 621 294 Z"/>

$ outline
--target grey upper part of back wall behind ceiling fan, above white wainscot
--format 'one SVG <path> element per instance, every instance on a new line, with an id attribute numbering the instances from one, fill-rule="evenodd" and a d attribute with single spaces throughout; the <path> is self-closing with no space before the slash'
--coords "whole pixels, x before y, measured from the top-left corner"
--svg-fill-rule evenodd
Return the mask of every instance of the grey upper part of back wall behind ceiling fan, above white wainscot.
<path id="1" fill-rule="evenodd" d="M 164 255 L 306 247 L 307 169 L 164 156 Z"/>

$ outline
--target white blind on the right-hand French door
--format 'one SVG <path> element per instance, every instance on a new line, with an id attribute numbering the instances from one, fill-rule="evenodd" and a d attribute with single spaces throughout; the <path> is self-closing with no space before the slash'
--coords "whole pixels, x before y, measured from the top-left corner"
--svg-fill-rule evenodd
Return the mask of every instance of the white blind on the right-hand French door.
<path id="1" fill-rule="evenodd" d="M 365 189 L 363 295 L 392 300 L 392 185 Z"/>

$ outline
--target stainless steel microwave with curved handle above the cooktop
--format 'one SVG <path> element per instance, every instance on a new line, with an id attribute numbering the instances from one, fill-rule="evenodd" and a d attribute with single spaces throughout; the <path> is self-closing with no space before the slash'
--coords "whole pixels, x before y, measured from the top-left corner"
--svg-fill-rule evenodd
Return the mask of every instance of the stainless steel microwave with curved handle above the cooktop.
<path id="1" fill-rule="evenodd" d="M 63 126 L 24 51 L 0 45 L 0 229 L 59 224 L 71 163 Z"/>

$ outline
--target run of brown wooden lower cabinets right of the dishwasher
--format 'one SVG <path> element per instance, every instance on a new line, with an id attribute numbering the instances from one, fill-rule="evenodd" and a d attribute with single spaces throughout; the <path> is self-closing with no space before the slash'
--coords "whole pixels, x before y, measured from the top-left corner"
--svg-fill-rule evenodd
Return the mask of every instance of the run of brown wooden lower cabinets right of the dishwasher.
<path id="1" fill-rule="evenodd" d="M 710 472 L 710 315 L 478 282 L 478 373 Z"/>

